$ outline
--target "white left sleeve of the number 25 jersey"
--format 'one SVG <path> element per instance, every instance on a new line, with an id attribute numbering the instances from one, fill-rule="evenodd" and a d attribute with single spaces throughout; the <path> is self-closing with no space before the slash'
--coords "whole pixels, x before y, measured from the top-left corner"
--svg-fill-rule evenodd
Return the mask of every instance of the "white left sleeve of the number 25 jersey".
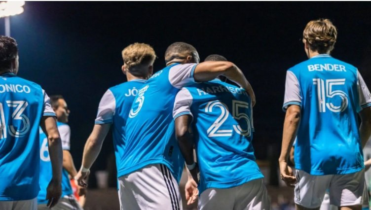
<path id="1" fill-rule="evenodd" d="M 193 118 L 192 113 L 190 112 L 190 106 L 192 105 L 192 95 L 186 88 L 182 88 L 175 97 L 174 102 L 174 109 L 173 109 L 173 117 L 176 119 L 182 115 L 191 115 Z"/>

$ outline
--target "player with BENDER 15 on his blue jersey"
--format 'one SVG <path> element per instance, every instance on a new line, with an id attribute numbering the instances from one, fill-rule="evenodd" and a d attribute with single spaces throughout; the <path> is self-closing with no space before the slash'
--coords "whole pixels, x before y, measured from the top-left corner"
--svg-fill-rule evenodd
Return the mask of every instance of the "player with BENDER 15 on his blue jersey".
<path id="1" fill-rule="evenodd" d="M 309 59 L 286 75 L 279 164 L 281 178 L 296 183 L 297 209 L 318 209 L 326 189 L 343 210 L 360 210 L 367 199 L 362 147 L 371 134 L 371 94 L 355 67 L 330 56 L 336 36 L 330 20 L 310 21 L 303 31 Z M 287 160 L 296 135 L 295 177 Z"/>

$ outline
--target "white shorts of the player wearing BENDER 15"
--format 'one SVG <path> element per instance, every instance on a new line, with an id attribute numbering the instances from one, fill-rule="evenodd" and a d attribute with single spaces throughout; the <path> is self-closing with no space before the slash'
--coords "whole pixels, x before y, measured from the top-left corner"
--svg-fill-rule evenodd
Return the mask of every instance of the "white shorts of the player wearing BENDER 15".
<path id="1" fill-rule="evenodd" d="M 310 175 L 297 170 L 296 177 L 294 200 L 305 208 L 319 208 L 327 189 L 330 190 L 330 204 L 337 207 L 362 205 L 369 199 L 365 193 L 364 170 L 346 175 Z"/>

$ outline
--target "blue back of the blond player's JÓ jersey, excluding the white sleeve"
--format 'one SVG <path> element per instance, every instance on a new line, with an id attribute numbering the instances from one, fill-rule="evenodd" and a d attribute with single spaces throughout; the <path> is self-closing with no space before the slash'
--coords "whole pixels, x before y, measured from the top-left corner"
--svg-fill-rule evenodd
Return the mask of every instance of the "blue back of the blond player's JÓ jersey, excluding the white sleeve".
<path id="1" fill-rule="evenodd" d="M 126 121 L 133 104 L 135 96 L 147 80 L 133 79 L 128 82 L 109 88 L 115 104 L 114 114 L 111 118 L 113 146 L 116 156 L 117 176 L 124 170 L 122 165 L 124 150 L 126 145 L 125 127 Z M 95 122 L 97 123 L 97 121 Z"/>

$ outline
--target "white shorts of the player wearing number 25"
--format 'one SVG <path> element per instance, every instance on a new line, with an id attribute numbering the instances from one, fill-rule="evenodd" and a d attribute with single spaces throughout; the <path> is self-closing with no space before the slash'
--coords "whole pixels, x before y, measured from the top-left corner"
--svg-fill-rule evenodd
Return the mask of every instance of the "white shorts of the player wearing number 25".
<path id="1" fill-rule="evenodd" d="M 269 197 L 262 178 L 239 186 L 208 188 L 198 200 L 199 210 L 270 210 Z"/>

